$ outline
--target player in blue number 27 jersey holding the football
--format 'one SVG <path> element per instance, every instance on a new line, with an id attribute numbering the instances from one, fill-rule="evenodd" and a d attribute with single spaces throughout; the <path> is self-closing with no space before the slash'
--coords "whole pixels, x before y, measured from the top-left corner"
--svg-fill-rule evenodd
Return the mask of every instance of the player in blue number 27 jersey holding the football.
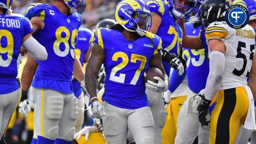
<path id="1" fill-rule="evenodd" d="M 168 89 L 168 76 L 161 63 L 160 37 L 147 32 L 151 14 L 142 0 L 123 0 L 115 8 L 117 25 L 98 29 L 92 55 L 86 67 L 86 89 L 92 113 L 102 117 L 108 144 L 125 144 L 127 131 L 135 143 L 154 143 L 154 122 L 145 94 L 143 73 L 150 67 L 159 68 L 164 80 L 146 86 L 155 91 Z M 115 37 L 115 39 L 109 39 Z M 95 76 L 104 62 L 106 71 L 103 105 L 97 99 Z M 153 84 L 152 84 L 153 83 Z"/>

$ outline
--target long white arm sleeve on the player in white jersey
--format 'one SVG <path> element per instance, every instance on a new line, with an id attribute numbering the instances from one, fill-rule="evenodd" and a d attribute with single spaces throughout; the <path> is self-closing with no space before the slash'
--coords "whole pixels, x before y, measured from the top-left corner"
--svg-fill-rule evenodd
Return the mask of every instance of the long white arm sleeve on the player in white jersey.
<path id="1" fill-rule="evenodd" d="M 206 81 L 205 98 L 212 100 L 222 82 L 222 77 L 225 69 L 225 55 L 220 51 L 212 51 L 210 54 L 210 72 Z"/>

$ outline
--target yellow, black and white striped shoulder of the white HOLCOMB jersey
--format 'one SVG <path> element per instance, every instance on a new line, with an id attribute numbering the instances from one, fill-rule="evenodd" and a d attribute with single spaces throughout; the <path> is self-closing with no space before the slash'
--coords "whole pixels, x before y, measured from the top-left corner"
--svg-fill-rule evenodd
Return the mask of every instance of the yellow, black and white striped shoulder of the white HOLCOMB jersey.
<path id="1" fill-rule="evenodd" d="M 229 29 L 230 29 L 230 27 L 227 25 L 226 22 L 211 23 L 205 32 L 205 37 L 206 37 L 207 42 L 210 39 L 219 39 L 219 40 L 226 39 Z"/>

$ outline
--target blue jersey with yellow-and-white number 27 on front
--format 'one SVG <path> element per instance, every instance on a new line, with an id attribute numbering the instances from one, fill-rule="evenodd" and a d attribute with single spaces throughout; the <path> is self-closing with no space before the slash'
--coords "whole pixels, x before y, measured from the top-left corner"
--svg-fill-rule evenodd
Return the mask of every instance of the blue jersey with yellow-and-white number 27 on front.
<path id="1" fill-rule="evenodd" d="M 106 53 L 102 100 L 125 109 L 149 106 L 143 73 L 149 68 L 153 55 L 161 49 L 160 37 L 150 33 L 148 37 L 128 41 L 120 31 L 103 28 L 97 30 L 94 42 Z"/>

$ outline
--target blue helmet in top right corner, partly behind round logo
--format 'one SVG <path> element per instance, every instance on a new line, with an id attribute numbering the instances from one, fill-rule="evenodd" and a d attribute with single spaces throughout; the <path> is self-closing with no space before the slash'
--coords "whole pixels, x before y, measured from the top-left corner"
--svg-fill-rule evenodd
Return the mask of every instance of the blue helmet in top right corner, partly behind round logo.
<path id="1" fill-rule="evenodd" d="M 256 0 L 236 0 L 233 4 L 245 4 L 249 11 L 250 20 L 256 19 Z"/>

